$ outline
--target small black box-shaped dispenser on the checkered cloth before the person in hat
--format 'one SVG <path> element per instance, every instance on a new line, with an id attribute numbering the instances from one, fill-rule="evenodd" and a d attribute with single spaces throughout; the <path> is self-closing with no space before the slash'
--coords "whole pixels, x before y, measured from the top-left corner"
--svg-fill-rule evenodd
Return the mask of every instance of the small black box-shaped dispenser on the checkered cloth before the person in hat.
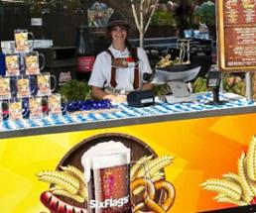
<path id="1" fill-rule="evenodd" d="M 146 107 L 155 103 L 153 90 L 132 91 L 127 95 L 127 103 L 132 107 Z"/>

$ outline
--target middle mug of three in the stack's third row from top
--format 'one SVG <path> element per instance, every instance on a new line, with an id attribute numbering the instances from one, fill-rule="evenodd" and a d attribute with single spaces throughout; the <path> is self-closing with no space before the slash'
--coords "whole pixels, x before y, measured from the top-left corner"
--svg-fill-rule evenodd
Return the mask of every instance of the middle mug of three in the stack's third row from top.
<path id="1" fill-rule="evenodd" d="M 17 77 L 16 89 L 18 98 L 28 98 L 35 93 L 36 78 L 34 76 L 20 75 Z"/>

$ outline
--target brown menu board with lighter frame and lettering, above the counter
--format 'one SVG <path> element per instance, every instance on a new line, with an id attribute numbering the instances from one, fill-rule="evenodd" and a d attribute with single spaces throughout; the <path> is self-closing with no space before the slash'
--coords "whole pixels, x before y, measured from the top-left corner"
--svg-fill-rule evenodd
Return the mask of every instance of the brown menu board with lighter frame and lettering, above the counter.
<path id="1" fill-rule="evenodd" d="M 256 69 L 256 0 L 216 2 L 219 68 Z"/>

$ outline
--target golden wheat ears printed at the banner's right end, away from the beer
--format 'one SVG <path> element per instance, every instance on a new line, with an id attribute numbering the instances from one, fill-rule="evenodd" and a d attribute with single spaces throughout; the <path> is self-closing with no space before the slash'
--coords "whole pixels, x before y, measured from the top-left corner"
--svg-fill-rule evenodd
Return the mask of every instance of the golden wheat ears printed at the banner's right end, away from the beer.
<path id="1" fill-rule="evenodd" d="M 234 205 L 249 205 L 256 197 L 256 138 L 252 138 L 247 155 L 242 152 L 237 161 L 237 173 L 225 173 L 222 179 L 207 179 L 203 189 L 217 192 L 213 199 Z"/>

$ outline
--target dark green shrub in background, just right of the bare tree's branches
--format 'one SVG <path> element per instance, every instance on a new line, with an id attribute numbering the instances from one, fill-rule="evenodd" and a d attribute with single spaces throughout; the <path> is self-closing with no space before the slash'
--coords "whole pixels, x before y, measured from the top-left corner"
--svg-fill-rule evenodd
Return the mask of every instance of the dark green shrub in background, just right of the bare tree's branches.
<path id="1" fill-rule="evenodd" d="M 175 26 L 175 19 L 169 11 L 156 11 L 152 17 L 151 25 Z"/>

